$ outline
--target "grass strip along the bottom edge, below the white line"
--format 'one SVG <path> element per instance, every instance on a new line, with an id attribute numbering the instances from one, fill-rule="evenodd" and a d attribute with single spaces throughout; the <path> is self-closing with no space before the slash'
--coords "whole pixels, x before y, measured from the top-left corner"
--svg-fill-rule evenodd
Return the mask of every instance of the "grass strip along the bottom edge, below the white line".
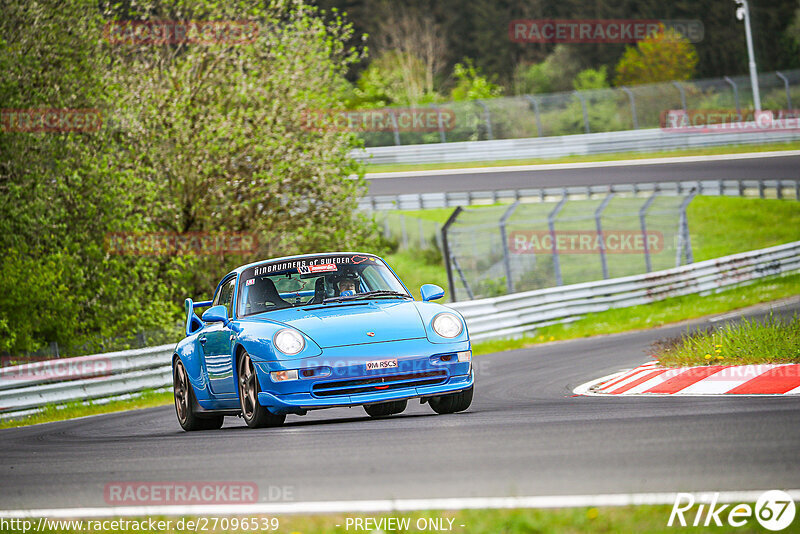
<path id="1" fill-rule="evenodd" d="M 752 503 L 749 503 L 751 509 L 754 508 Z M 690 511 L 684 514 L 688 524 L 694 521 L 694 516 L 698 507 L 693 507 Z M 730 527 L 727 525 L 727 514 L 730 508 L 726 509 L 720 514 L 720 520 L 725 525 L 724 527 L 713 527 L 715 532 L 737 532 L 737 533 L 751 533 L 751 532 L 768 532 L 761 528 L 754 517 L 747 519 L 747 523 L 742 527 Z M 672 511 L 671 505 L 660 506 L 624 506 L 624 507 L 600 507 L 600 508 L 563 508 L 563 509 L 518 509 L 518 510 L 459 510 L 447 512 L 411 512 L 411 513 L 395 513 L 391 515 L 375 514 L 375 515 L 314 515 L 314 516 L 279 516 L 277 518 L 277 530 L 259 530 L 260 532 L 286 532 L 292 534 L 345 534 L 351 532 L 436 532 L 436 528 L 431 528 L 436 523 L 425 523 L 426 520 L 431 519 L 438 521 L 440 525 L 444 526 L 444 530 L 448 530 L 449 525 L 452 524 L 451 532 L 456 533 L 469 533 L 469 534 L 530 534 L 530 533 L 559 533 L 559 534 L 572 534 L 572 533 L 610 533 L 610 532 L 648 532 L 648 533 L 674 533 L 676 529 L 680 532 L 708 532 L 709 527 L 681 527 L 681 526 L 667 526 L 669 521 L 670 512 Z M 705 511 L 704 511 L 705 512 Z M 251 520 L 258 518 L 258 525 L 262 521 L 269 524 L 271 517 L 265 516 L 252 516 L 249 518 L 242 517 L 241 519 L 248 519 L 248 526 L 245 528 L 231 528 L 232 519 L 237 521 L 236 524 L 241 524 L 239 518 L 205 518 L 203 524 L 208 526 L 210 532 L 254 532 L 250 526 Z M 377 529 L 374 523 L 370 523 L 369 528 L 355 527 L 354 522 L 348 524 L 348 518 L 371 519 L 380 521 L 384 518 L 392 518 L 396 520 L 408 520 L 408 528 L 382 530 Z M 142 521 L 144 518 L 128 518 L 128 521 Z M 197 525 L 198 517 L 158 517 L 153 518 L 155 521 L 164 521 L 159 528 L 158 532 L 162 534 L 178 534 L 183 532 L 190 532 L 193 529 L 187 528 L 187 521 L 194 521 Z M 702 519 L 705 519 L 703 514 Z M 449 520 L 452 520 L 450 523 Z M 94 522 L 95 520 L 84 521 L 84 527 L 92 527 L 93 525 L 101 526 Z M 102 520 L 100 520 L 102 521 Z M 167 524 L 166 522 L 170 523 Z M 179 521 L 183 521 L 182 530 L 176 527 Z M 796 522 L 797 520 L 795 520 Z M 418 523 L 419 522 L 419 523 Z M 33 521 L 34 526 L 36 520 Z M 53 522 L 55 523 L 55 522 Z M 65 524 L 66 522 L 62 523 Z M 145 520 L 145 524 L 146 524 Z M 676 520 L 677 524 L 677 520 Z M 227 528 L 220 528 L 220 525 L 225 525 Z M 463 527 L 461 525 L 464 525 Z M 348 528 L 349 526 L 349 528 Z M 161 528 L 166 527 L 166 528 Z M 405 525 L 404 525 L 405 527 Z M 425 527 L 425 528 L 422 528 Z M 726 528 L 727 527 L 727 528 Z M 64 532 L 64 533 L 79 533 L 87 532 L 87 529 L 78 530 L 75 528 L 60 528 L 58 530 L 47 529 L 44 532 Z M 99 532 L 100 529 L 94 529 Z M 148 529 L 136 530 L 133 529 L 119 529 L 117 532 L 151 532 Z M 788 531 L 787 531 L 788 532 Z"/>

